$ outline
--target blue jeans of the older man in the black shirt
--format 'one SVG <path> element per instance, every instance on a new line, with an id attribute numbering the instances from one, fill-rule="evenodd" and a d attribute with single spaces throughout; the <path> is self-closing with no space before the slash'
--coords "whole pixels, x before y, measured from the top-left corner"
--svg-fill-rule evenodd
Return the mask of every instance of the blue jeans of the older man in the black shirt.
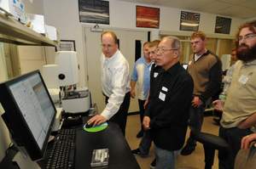
<path id="1" fill-rule="evenodd" d="M 175 151 L 160 149 L 155 146 L 155 169 L 175 169 Z"/>

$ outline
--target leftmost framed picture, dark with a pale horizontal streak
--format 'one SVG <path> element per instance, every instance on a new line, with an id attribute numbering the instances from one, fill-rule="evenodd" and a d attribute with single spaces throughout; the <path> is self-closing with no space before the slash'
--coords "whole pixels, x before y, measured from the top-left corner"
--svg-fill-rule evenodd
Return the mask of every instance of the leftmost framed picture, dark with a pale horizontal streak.
<path id="1" fill-rule="evenodd" d="M 85 23 L 109 25 L 109 2 L 79 0 L 79 20 Z"/>

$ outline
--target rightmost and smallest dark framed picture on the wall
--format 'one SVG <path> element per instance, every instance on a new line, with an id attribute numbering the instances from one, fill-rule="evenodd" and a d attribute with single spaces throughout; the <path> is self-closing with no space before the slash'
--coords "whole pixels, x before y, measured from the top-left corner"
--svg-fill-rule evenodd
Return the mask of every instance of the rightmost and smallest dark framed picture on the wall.
<path id="1" fill-rule="evenodd" d="M 217 16 L 215 23 L 215 33 L 230 34 L 231 20 L 232 19 L 230 18 Z"/>

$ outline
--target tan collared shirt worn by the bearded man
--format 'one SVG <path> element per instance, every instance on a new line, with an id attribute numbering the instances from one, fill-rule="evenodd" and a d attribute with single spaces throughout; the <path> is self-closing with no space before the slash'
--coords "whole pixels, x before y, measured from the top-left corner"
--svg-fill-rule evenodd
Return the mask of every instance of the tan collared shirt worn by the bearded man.
<path id="1" fill-rule="evenodd" d="M 232 80 L 224 102 L 222 127 L 237 127 L 256 113 L 256 60 L 235 64 Z"/>

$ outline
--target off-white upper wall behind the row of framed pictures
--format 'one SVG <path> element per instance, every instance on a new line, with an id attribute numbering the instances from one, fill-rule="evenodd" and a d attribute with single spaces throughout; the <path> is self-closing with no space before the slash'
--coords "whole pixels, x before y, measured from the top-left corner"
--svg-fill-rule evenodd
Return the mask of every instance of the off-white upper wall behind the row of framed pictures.
<path id="1" fill-rule="evenodd" d="M 109 14 L 110 14 L 110 25 L 100 25 L 102 27 L 112 27 L 112 28 L 125 28 L 125 29 L 143 29 L 151 30 L 155 32 L 158 31 L 179 31 L 180 22 L 180 12 L 182 9 L 179 8 L 160 8 L 160 29 L 146 29 L 136 27 L 136 5 L 144 5 L 157 7 L 153 5 L 145 5 L 142 3 L 129 3 L 122 2 L 118 0 L 109 1 Z M 188 11 L 188 10 L 186 10 Z M 197 11 L 191 11 L 197 12 Z M 201 21 L 199 30 L 205 31 L 207 34 L 214 34 L 216 14 L 201 13 Z M 80 64 L 80 85 L 86 84 L 85 76 L 87 75 L 86 65 L 84 59 L 84 37 L 82 34 L 83 25 L 94 24 L 84 24 L 79 23 L 79 4 L 78 0 L 44 0 L 44 15 L 45 20 L 48 25 L 54 25 L 60 32 L 61 39 L 70 39 L 76 41 L 76 47 L 78 52 L 78 59 Z M 232 18 L 230 35 L 235 35 L 238 25 L 240 25 L 242 20 L 237 18 Z M 96 56 L 97 57 L 97 56 Z"/>

